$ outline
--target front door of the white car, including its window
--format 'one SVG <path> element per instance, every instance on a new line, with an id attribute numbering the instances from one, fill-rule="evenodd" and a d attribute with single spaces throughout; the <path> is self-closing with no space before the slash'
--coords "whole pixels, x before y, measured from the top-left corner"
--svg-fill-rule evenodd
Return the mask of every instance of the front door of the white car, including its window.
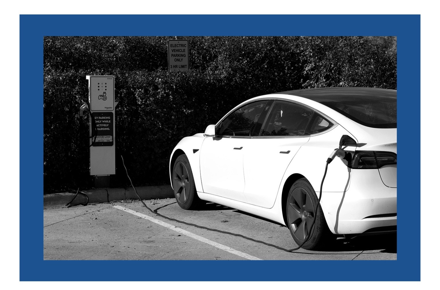
<path id="1" fill-rule="evenodd" d="M 267 114 L 268 102 L 243 105 L 217 124 L 216 137 L 205 138 L 200 150 L 203 192 L 246 202 L 243 153 L 251 147 L 253 132 L 261 128 L 258 120 Z"/>

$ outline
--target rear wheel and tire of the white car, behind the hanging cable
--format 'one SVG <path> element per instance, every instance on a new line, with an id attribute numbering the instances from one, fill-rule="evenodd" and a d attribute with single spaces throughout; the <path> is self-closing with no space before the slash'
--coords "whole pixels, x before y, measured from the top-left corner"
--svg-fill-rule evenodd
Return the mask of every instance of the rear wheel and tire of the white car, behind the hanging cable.
<path id="1" fill-rule="evenodd" d="M 307 232 L 310 231 L 307 242 L 302 246 L 303 249 L 322 249 L 326 241 L 330 244 L 332 240 L 332 233 L 327 226 L 321 205 L 318 207 L 315 224 L 312 226 L 317 203 L 315 190 L 306 178 L 298 179 L 290 187 L 286 203 L 287 226 L 298 245 L 304 242 Z"/>

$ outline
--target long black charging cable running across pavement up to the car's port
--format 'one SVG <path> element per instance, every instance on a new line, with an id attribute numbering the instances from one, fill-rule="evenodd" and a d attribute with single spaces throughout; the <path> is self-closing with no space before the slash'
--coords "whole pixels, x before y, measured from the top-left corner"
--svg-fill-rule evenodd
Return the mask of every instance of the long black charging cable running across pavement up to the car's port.
<path id="1" fill-rule="evenodd" d="M 179 221 L 179 220 L 176 220 L 175 218 L 172 218 L 172 217 L 166 217 L 166 216 L 164 216 L 164 215 L 162 215 L 162 214 L 159 214 L 157 211 L 151 210 L 151 209 L 150 209 L 149 207 L 147 207 L 147 205 L 143 202 L 143 200 L 142 200 L 141 197 L 139 196 L 139 194 L 138 194 L 136 188 L 134 187 L 134 185 L 133 185 L 133 183 L 132 183 L 132 180 L 131 180 L 130 176 L 128 175 L 127 167 L 125 167 L 124 158 L 122 157 L 122 155 L 121 155 L 121 159 L 122 159 L 122 165 L 124 165 L 124 168 L 125 168 L 125 172 L 126 172 L 126 174 L 127 174 L 127 177 L 128 177 L 128 179 L 130 180 L 130 183 L 131 183 L 131 185 L 132 185 L 132 188 L 133 188 L 133 189 L 135 190 L 135 192 L 136 192 L 136 196 L 138 197 L 138 199 L 140 200 L 140 202 L 143 204 L 143 206 L 144 206 L 145 208 L 147 208 L 147 210 L 149 210 L 152 214 L 155 214 L 155 215 L 158 215 L 158 216 L 160 216 L 160 217 L 166 218 L 167 220 L 170 220 L 170 221 L 176 221 L 176 222 L 179 222 L 179 223 L 182 223 L 182 224 L 185 224 L 185 225 L 192 225 L 192 226 L 194 226 L 194 227 L 196 227 L 196 228 L 204 228 L 204 229 L 209 230 L 209 231 L 221 232 L 221 233 L 228 234 L 228 235 L 232 235 L 232 236 L 239 236 L 239 237 L 242 237 L 242 238 L 244 238 L 244 239 L 249 239 L 249 240 L 251 240 L 251 241 L 253 241 L 253 242 L 262 243 L 262 244 L 264 244 L 264 245 L 266 245 L 266 246 L 272 246 L 272 247 L 274 247 L 274 248 L 277 248 L 277 249 L 279 249 L 279 250 L 283 250 L 283 251 L 286 251 L 286 252 L 293 252 L 293 251 L 295 251 L 295 250 L 298 250 L 298 249 L 301 248 L 301 246 L 304 245 L 305 242 L 308 241 L 308 236 L 310 235 L 310 233 L 308 233 L 308 235 L 307 235 L 306 238 L 304 239 L 304 242 L 301 243 L 300 246 L 298 246 L 298 247 L 296 247 L 296 248 L 294 248 L 294 249 L 290 249 L 290 250 L 288 250 L 288 249 L 285 249 L 285 248 L 283 248 L 283 247 L 276 246 L 276 245 L 271 244 L 271 243 L 266 243 L 266 242 L 264 242 L 264 241 L 260 241 L 260 240 L 257 240 L 257 239 L 249 238 L 249 237 L 247 237 L 247 236 L 243 236 L 243 235 L 240 235 L 240 234 L 237 234 L 237 233 L 226 232 L 226 231 L 222 231 L 222 230 L 219 230 L 219 229 L 216 229 L 216 228 L 207 228 L 207 227 L 204 227 L 204 226 L 202 226 L 202 225 L 196 225 L 196 224 L 188 223 L 188 222 L 186 222 L 186 221 Z M 331 162 L 331 160 L 330 160 L 330 162 Z M 327 160 L 327 163 L 326 163 L 326 170 L 324 171 L 323 180 L 321 181 L 321 188 L 320 188 L 320 190 L 319 190 L 319 199 L 318 199 L 318 203 L 316 204 L 315 213 L 318 212 L 319 202 L 321 201 L 321 195 L 322 195 L 322 191 L 323 191 L 323 183 L 324 183 L 324 179 L 325 179 L 326 174 L 327 174 L 327 166 L 328 166 L 328 164 L 329 164 L 330 162 L 328 162 L 328 160 Z M 313 221 L 312 221 L 312 227 L 310 227 L 310 228 L 313 228 L 313 225 L 315 224 L 315 219 L 316 219 L 316 214 L 315 214 L 315 217 L 314 217 L 314 219 L 313 219 Z M 300 254 L 312 254 L 312 253 L 301 252 Z"/>

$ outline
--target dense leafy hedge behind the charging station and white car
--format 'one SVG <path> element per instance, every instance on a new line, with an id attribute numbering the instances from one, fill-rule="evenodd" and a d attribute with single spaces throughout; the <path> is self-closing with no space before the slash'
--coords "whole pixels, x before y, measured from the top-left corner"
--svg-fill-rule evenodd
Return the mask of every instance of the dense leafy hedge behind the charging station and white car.
<path id="1" fill-rule="evenodd" d="M 114 75 L 116 175 L 169 183 L 172 148 L 248 98 L 309 87 L 396 89 L 395 37 L 182 37 L 190 70 L 167 71 L 173 37 L 44 38 L 44 192 L 91 188 L 86 75 Z"/>

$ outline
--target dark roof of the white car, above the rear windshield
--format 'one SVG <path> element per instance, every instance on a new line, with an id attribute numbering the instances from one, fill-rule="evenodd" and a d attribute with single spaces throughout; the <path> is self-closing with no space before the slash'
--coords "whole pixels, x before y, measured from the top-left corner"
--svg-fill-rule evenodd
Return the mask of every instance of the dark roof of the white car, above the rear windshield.
<path id="1" fill-rule="evenodd" d="M 381 89 L 376 87 L 321 87 L 314 89 L 284 91 L 275 94 L 289 94 L 302 98 L 308 98 L 319 103 L 331 100 L 353 100 L 354 98 L 380 99 L 397 97 L 396 90 Z"/>

